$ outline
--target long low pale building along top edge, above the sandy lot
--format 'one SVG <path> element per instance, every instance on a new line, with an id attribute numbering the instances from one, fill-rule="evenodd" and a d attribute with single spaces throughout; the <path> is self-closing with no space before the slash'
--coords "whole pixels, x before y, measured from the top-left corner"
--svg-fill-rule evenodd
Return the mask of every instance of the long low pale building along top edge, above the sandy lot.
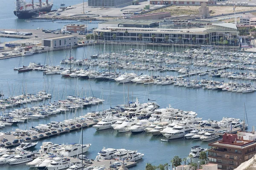
<path id="1" fill-rule="evenodd" d="M 216 0 L 150 0 L 150 4 L 156 5 L 195 5 L 200 6 L 201 3 L 207 3 L 207 5 L 215 5 Z"/>

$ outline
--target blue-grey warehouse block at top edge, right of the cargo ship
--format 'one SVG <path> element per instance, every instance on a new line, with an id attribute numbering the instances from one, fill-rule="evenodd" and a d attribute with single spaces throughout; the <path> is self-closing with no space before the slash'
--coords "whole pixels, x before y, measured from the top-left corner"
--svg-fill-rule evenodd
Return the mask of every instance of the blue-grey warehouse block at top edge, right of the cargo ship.
<path id="1" fill-rule="evenodd" d="M 131 5 L 134 0 L 88 0 L 88 6 L 119 7 Z"/>

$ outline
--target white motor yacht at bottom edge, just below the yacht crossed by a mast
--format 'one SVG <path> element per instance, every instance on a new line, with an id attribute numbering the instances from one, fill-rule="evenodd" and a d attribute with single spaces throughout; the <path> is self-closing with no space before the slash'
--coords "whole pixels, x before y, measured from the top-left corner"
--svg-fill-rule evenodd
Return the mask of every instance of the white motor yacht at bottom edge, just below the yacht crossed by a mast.
<path id="1" fill-rule="evenodd" d="M 53 158 L 52 162 L 47 165 L 47 170 L 63 170 L 71 167 L 72 165 L 73 162 L 71 162 L 68 158 Z"/>

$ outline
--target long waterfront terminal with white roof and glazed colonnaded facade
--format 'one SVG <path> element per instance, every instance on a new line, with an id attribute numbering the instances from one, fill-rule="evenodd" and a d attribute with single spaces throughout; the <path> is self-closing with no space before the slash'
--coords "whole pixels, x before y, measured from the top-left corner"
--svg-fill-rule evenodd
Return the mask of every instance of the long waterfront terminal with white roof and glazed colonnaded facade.
<path id="1" fill-rule="evenodd" d="M 134 21 L 136 22 L 136 21 Z M 99 24 L 100 25 L 100 24 Z M 127 32 L 126 32 L 127 31 Z M 115 24 L 105 25 L 93 31 L 100 35 L 103 33 L 104 40 L 112 41 L 113 34 L 116 35 L 116 41 L 131 42 L 157 42 L 165 43 L 166 36 L 169 37 L 167 42 L 173 43 L 219 43 L 220 37 L 227 40 L 230 45 L 238 40 L 239 31 L 233 23 L 213 23 L 204 28 L 137 28 L 137 27 L 118 27 Z M 125 33 L 126 32 L 126 33 Z M 142 34 L 142 38 L 139 38 Z M 152 36 L 154 35 L 154 39 Z"/>

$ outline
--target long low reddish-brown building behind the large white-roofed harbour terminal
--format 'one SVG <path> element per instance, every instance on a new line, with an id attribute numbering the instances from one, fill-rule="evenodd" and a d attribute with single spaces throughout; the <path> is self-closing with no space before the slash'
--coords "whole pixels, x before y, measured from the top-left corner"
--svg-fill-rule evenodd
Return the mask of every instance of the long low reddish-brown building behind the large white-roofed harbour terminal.
<path id="1" fill-rule="evenodd" d="M 153 14 L 135 15 L 128 20 L 163 20 L 165 17 L 171 17 L 170 12 L 159 12 Z"/>

